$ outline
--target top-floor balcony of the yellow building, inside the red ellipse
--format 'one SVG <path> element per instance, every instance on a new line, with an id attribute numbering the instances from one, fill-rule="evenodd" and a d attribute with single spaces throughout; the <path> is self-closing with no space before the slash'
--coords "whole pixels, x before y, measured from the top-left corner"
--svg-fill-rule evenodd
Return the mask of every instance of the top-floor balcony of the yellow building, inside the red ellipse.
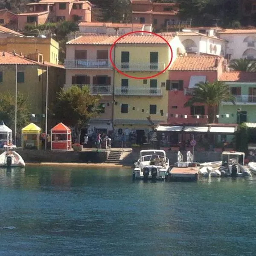
<path id="1" fill-rule="evenodd" d="M 116 67 L 122 71 L 153 71 L 160 72 L 165 69 L 165 63 L 116 63 Z"/>

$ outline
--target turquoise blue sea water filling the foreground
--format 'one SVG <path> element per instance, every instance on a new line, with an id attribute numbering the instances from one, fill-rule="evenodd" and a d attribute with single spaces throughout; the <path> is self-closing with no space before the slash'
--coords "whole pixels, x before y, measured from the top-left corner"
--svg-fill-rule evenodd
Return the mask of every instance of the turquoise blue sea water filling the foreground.
<path id="1" fill-rule="evenodd" d="M 256 177 L 132 181 L 132 169 L 0 169 L 0 256 L 256 255 Z"/>

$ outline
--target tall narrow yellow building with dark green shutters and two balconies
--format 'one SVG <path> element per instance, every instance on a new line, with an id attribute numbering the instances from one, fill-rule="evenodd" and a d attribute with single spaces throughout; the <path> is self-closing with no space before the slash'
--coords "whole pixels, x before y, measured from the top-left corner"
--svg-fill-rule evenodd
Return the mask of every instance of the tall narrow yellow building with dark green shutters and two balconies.
<path id="1" fill-rule="evenodd" d="M 171 34 L 162 38 L 152 35 L 134 35 L 122 38 L 115 47 L 115 64 L 129 78 L 115 71 L 114 75 L 114 132 L 124 133 L 130 143 L 142 144 L 150 140 L 152 131 L 147 117 L 157 124 L 167 122 L 169 72 L 161 73 L 176 58 L 177 48 L 183 50 L 180 40 Z M 145 79 L 141 79 L 141 78 Z M 140 78 L 140 79 L 139 79 Z"/>

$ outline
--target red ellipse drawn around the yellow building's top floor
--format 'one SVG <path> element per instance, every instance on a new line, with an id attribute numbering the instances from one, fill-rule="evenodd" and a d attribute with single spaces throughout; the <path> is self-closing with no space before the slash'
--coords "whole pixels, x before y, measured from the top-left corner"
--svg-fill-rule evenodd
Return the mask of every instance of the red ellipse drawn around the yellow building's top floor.
<path id="1" fill-rule="evenodd" d="M 172 56 L 173 56 L 173 54 L 172 54 L 172 56 L 171 56 L 171 60 L 169 61 L 169 64 L 167 65 L 167 67 L 166 67 L 164 70 L 160 71 L 159 73 L 157 73 L 157 74 L 155 74 L 155 75 L 153 75 L 153 76 L 145 76 L 145 77 L 130 76 L 130 75 L 128 75 L 128 74 L 125 74 L 124 72 L 122 72 L 121 70 L 119 70 L 119 69 L 116 67 L 116 65 L 114 64 L 114 62 L 113 62 L 113 60 L 112 60 L 112 51 L 113 51 L 113 48 L 115 47 L 116 43 L 117 43 L 121 38 L 125 37 L 126 35 L 131 35 L 131 34 L 134 34 L 134 33 L 148 33 L 148 34 L 156 35 L 156 36 L 162 38 L 163 41 L 165 41 L 166 44 L 169 46 L 169 48 L 170 48 L 170 50 L 171 50 L 171 54 L 172 54 L 172 47 L 171 47 L 171 45 L 170 45 L 169 42 L 168 42 L 165 38 L 163 38 L 161 35 L 158 35 L 158 34 L 156 34 L 156 33 L 149 32 L 149 31 L 132 31 L 132 32 L 128 32 L 128 33 L 126 33 L 126 34 L 120 36 L 120 37 L 117 38 L 116 41 L 114 41 L 114 43 L 112 44 L 111 49 L 110 49 L 110 54 L 109 54 L 109 55 L 110 55 L 110 61 L 111 61 L 111 64 L 112 64 L 113 68 L 114 68 L 118 73 L 120 73 L 120 74 L 122 74 L 122 75 L 124 75 L 124 76 L 127 76 L 127 77 L 129 77 L 129 78 L 133 78 L 133 79 L 150 79 L 150 78 L 159 76 L 160 74 L 164 73 L 164 72 L 170 67 L 170 65 L 171 65 L 171 63 L 172 63 Z"/>

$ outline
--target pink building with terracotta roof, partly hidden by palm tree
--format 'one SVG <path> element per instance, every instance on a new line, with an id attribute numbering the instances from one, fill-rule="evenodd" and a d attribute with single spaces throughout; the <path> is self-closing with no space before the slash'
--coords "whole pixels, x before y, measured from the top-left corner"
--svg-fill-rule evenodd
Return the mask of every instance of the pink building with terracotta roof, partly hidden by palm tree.
<path id="1" fill-rule="evenodd" d="M 207 123 L 207 108 L 196 105 L 184 108 L 192 96 L 195 84 L 214 82 L 223 72 L 224 58 L 201 55 L 177 57 L 169 71 L 168 123 Z"/>

